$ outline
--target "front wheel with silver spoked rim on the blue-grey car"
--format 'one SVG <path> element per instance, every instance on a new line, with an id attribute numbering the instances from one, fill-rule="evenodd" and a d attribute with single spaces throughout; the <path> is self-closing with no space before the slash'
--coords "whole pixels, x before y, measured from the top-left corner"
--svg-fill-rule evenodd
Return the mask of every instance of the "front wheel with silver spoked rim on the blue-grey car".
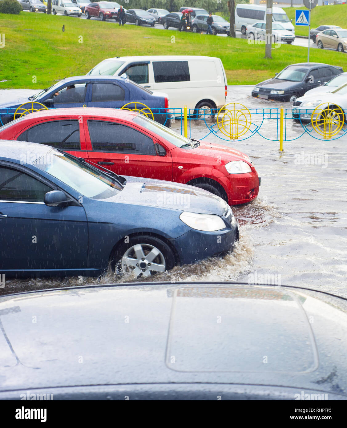
<path id="1" fill-rule="evenodd" d="M 119 275 L 125 275 L 126 273 L 130 273 L 132 270 L 136 269 L 138 271 L 138 275 L 136 277 L 146 277 L 151 276 L 154 273 L 171 270 L 176 265 L 175 254 L 171 247 L 169 247 L 169 245 L 160 238 L 144 234 L 130 237 L 127 241 L 128 242 L 122 242 L 119 244 L 110 258 L 112 270 Z M 151 261 L 148 260 L 148 265 L 145 262 L 145 258 L 152 250 L 157 253 L 157 256 L 155 256 L 154 259 L 151 259 Z M 138 252 L 137 255 L 135 251 Z M 145 260 L 142 260 L 143 258 Z M 127 259 L 133 259 L 131 264 L 127 264 Z M 142 267 L 140 265 L 141 263 L 144 263 Z M 151 266 L 154 264 L 161 265 L 162 268 L 160 268 L 160 270 L 151 269 Z M 145 269 L 145 271 L 142 269 Z M 155 269 L 158 269 L 158 266 L 156 266 Z"/>

